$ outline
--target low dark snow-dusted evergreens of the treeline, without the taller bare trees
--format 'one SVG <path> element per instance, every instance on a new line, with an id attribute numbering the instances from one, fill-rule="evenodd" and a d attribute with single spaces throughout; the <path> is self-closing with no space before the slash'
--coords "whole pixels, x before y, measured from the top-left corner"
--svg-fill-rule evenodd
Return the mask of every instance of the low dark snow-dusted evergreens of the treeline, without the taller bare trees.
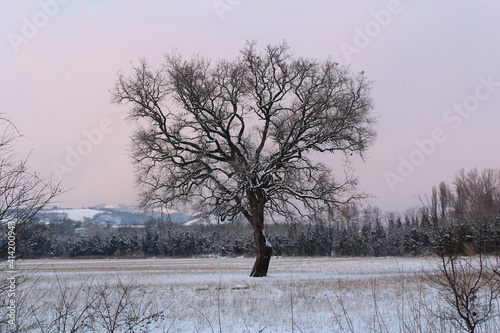
<path id="1" fill-rule="evenodd" d="M 496 233 L 488 236 L 494 240 L 490 252 L 500 248 L 500 220 L 496 224 Z M 37 228 L 37 237 L 20 247 L 24 257 L 255 255 L 251 228 L 243 223 L 182 226 L 153 220 L 143 229 L 115 229 L 98 225 L 81 228 L 78 222 L 67 220 Z M 439 254 L 442 241 L 425 215 L 412 214 L 350 223 L 270 225 L 267 232 L 274 254 L 282 256 Z M 481 243 L 481 235 L 465 225 L 447 230 L 446 237 L 461 242 L 462 252 Z"/>

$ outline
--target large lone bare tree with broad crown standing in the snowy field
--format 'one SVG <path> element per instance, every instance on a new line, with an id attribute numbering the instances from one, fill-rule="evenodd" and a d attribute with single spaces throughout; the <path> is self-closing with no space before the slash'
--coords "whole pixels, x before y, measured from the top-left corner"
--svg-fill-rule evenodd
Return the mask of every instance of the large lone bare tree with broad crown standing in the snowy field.
<path id="1" fill-rule="evenodd" d="M 285 43 L 247 43 L 235 60 L 165 56 L 118 75 L 114 103 L 138 121 L 132 157 L 143 207 L 191 203 L 252 225 L 267 274 L 266 214 L 306 214 L 352 201 L 355 179 L 334 177 L 317 153 L 362 153 L 375 132 L 370 82 L 332 60 L 294 58 Z M 143 120 L 143 121 L 139 121 Z"/>

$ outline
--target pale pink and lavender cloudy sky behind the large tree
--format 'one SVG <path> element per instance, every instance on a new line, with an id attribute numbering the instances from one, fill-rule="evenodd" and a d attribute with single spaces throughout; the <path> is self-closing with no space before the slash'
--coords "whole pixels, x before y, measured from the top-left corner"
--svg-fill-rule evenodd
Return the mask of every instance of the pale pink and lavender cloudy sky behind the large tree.
<path id="1" fill-rule="evenodd" d="M 245 40 L 364 70 L 378 139 L 355 160 L 384 210 L 460 169 L 500 166 L 500 2 L 0 0 L 0 112 L 20 156 L 61 179 L 63 207 L 134 204 L 133 124 L 109 103 L 119 70 L 177 49 L 233 58 Z"/>

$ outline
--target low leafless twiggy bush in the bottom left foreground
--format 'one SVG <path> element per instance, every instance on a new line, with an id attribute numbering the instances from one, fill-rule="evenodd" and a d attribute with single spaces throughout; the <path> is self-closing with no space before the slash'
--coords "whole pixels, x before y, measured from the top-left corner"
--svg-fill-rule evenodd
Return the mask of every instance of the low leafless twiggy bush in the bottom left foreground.
<path id="1" fill-rule="evenodd" d="M 57 274 L 55 279 L 56 288 L 38 296 L 31 295 L 37 281 L 25 281 L 18 298 L 23 311 L 15 326 L 6 325 L 0 332 L 149 332 L 165 319 L 166 308 L 133 282 L 118 277 L 112 285 L 91 277 L 73 288 Z"/>

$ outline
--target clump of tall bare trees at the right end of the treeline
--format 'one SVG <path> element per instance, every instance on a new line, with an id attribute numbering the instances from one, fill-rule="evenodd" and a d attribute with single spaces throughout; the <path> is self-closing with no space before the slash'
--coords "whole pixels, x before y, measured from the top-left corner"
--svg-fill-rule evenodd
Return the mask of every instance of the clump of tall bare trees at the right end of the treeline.
<path id="1" fill-rule="evenodd" d="M 500 246 L 500 169 L 457 173 L 453 186 L 444 182 L 422 199 L 432 222 L 439 252 L 498 253 Z"/>

